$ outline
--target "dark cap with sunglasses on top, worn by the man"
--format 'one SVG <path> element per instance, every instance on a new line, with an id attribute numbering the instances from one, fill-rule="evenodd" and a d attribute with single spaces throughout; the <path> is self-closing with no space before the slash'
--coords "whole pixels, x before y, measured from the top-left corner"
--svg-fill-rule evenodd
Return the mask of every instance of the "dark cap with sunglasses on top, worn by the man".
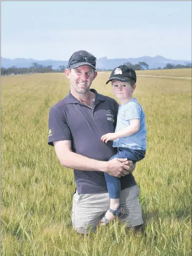
<path id="1" fill-rule="evenodd" d="M 86 52 L 86 50 L 78 50 L 72 54 L 69 59 L 68 66 L 69 69 L 76 69 L 79 66 L 91 66 L 94 70 L 96 69 L 96 60 L 92 54 Z"/>

